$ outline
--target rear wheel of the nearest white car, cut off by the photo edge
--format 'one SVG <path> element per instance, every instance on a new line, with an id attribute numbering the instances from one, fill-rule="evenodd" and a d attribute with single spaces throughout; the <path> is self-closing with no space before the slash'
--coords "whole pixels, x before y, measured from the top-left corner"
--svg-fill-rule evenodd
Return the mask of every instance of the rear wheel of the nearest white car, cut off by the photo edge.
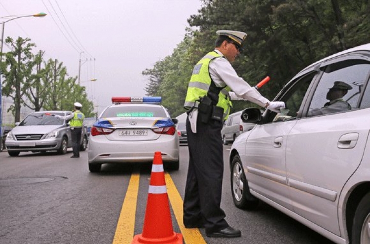
<path id="1" fill-rule="evenodd" d="M 360 201 L 353 218 L 351 244 L 364 244 L 369 241 L 370 192 Z M 364 240 L 362 240 L 364 239 Z"/>

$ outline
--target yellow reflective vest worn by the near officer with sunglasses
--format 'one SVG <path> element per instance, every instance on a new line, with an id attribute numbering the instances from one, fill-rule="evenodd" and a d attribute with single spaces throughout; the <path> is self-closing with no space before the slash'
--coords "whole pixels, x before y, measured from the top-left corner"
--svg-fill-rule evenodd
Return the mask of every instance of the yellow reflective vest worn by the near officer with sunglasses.
<path id="1" fill-rule="evenodd" d="M 189 86 L 187 88 L 187 94 L 185 98 L 184 107 L 191 109 L 192 107 L 198 107 L 199 98 L 207 95 L 210 88 L 212 78 L 209 73 L 209 64 L 215 58 L 224 58 L 222 55 L 215 51 L 207 53 L 195 66 L 190 78 Z M 226 120 L 229 113 L 230 107 L 232 106 L 230 96 L 228 92 L 231 89 L 225 86 L 219 93 L 219 101 L 217 106 L 223 108 L 223 120 Z"/>

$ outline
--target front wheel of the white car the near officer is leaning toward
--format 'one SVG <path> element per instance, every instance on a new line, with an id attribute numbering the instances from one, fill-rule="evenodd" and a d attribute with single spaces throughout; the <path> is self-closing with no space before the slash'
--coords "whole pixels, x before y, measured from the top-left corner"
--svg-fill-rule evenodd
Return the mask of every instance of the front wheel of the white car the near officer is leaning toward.
<path id="1" fill-rule="evenodd" d="M 236 173 L 239 173 L 239 176 L 236 177 Z M 235 175 L 234 175 L 235 174 Z M 243 182 L 243 189 L 242 189 L 242 195 L 240 199 L 237 199 L 235 197 L 234 192 L 234 181 L 235 180 L 241 180 Z M 243 165 L 241 163 L 239 155 L 236 155 L 232 159 L 231 163 L 231 172 L 230 172 L 230 185 L 231 185 L 231 193 L 232 193 L 232 200 L 234 201 L 234 205 L 238 209 L 256 209 L 257 206 L 259 205 L 259 200 L 254 197 L 248 186 L 248 180 L 245 177 L 244 170 L 243 170 Z"/>

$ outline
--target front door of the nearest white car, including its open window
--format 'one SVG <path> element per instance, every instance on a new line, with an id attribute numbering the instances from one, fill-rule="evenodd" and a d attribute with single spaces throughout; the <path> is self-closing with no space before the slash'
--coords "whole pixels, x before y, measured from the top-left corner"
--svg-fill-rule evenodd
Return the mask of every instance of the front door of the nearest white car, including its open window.
<path id="1" fill-rule="evenodd" d="M 291 82 L 280 97 L 290 109 L 280 114 L 267 110 L 263 123 L 250 132 L 246 143 L 244 162 L 251 193 L 290 210 L 293 206 L 286 175 L 287 136 L 297 122 L 297 111 L 315 74 Z"/>

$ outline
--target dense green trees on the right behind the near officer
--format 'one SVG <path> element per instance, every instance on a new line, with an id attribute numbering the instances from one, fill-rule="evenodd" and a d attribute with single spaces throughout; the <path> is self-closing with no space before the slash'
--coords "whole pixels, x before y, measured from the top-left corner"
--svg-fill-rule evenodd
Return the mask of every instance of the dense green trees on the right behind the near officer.
<path id="1" fill-rule="evenodd" d="M 146 91 L 162 96 L 174 116 L 184 112 L 193 66 L 214 48 L 217 30 L 237 30 L 248 37 L 233 67 L 250 85 L 269 75 L 260 92 L 272 100 L 307 65 L 367 43 L 369 13 L 369 0 L 202 0 L 173 54 L 143 72 L 150 75 Z M 233 104 L 232 111 L 256 106 Z"/>

